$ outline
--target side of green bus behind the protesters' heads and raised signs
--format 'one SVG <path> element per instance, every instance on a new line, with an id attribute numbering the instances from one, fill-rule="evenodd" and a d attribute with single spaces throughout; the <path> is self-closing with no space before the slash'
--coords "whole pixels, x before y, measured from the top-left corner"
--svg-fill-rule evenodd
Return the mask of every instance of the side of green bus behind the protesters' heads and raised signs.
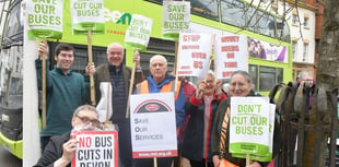
<path id="1" fill-rule="evenodd" d="M 125 32 L 132 14 L 141 14 L 153 19 L 151 39 L 145 52 L 141 53 L 141 67 L 149 73 L 148 61 L 154 53 L 162 53 L 168 60 L 172 70 L 175 56 L 175 41 L 162 35 L 162 0 L 105 0 L 105 34 L 93 35 L 93 59 L 96 65 L 105 62 L 105 47 L 112 41 L 124 44 Z M 77 70 L 83 72 L 86 64 L 86 36 L 72 35 L 69 1 L 65 1 L 63 36 L 60 41 L 77 44 Z M 190 29 L 201 33 L 232 33 L 248 38 L 248 49 L 255 43 L 259 49 L 265 46 L 266 57 L 248 56 L 248 72 L 255 91 L 268 95 L 277 83 L 292 81 L 292 44 L 290 28 L 281 16 L 265 11 L 260 7 L 250 5 L 244 0 L 190 0 Z M 282 59 L 283 60 L 282 60 Z M 126 49 L 127 65 L 132 64 L 132 50 Z M 52 64 L 52 63 L 51 63 Z"/>

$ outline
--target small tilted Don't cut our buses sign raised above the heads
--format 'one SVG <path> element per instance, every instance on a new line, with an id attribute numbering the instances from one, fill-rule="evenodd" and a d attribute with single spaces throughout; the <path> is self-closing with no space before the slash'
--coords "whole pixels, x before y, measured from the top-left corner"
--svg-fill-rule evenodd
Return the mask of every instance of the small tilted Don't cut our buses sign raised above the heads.
<path id="1" fill-rule="evenodd" d="M 151 17 L 133 14 L 126 31 L 125 44 L 144 51 L 150 41 L 152 24 L 153 20 Z"/>

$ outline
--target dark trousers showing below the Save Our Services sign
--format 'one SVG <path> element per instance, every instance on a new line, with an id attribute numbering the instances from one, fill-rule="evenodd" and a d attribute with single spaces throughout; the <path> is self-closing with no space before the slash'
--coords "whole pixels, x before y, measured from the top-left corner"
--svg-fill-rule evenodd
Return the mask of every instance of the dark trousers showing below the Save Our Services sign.
<path id="1" fill-rule="evenodd" d="M 163 157 L 156 158 L 159 167 L 171 167 L 173 157 Z M 154 162 L 153 158 L 135 158 L 132 163 L 132 167 L 153 167 Z"/>

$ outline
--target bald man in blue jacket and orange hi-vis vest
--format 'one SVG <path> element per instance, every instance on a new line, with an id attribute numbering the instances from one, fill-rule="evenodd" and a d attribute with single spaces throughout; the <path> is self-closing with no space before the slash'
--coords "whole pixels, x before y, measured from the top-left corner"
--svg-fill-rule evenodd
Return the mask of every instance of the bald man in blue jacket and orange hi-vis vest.
<path id="1" fill-rule="evenodd" d="M 167 60 L 161 55 L 155 55 L 150 59 L 150 71 L 151 75 L 137 85 L 135 94 L 152 94 L 152 93 L 165 93 L 175 91 L 175 77 L 166 74 L 167 72 Z M 185 96 L 180 84 L 177 84 L 177 91 L 175 96 L 175 118 L 176 128 L 178 128 L 185 117 Z M 171 167 L 173 158 L 164 157 L 157 158 L 157 166 Z M 153 159 L 133 159 L 132 167 L 152 167 Z"/>

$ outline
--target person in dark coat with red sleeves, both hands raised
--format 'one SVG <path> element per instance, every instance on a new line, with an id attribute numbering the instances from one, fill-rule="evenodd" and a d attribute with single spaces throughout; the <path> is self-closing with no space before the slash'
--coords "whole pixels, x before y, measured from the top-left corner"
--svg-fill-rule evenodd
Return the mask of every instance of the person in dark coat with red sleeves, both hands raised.
<path id="1" fill-rule="evenodd" d="M 190 119 L 185 131 L 183 157 L 188 158 L 192 167 L 213 167 L 209 136 L 219 103 L 225 98 L 221 81 L 215 82 L 214 73 L 209 71 L 206 79 L 197 84 L 197 92 L 186 102 Z"/>

